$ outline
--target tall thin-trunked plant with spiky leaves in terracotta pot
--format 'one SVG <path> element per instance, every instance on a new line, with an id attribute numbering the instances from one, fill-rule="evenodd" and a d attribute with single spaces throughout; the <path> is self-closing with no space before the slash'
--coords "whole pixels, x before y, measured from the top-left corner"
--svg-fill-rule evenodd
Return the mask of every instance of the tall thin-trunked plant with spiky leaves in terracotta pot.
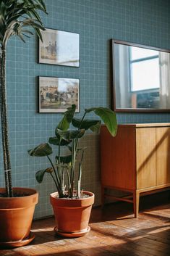
<path id="1" fill-rule="evenodd" d="M 0 1 L 0 112 L 1 141 L 4 157 L 5 188 L 0 189 L 0 246 L 18 247 L 28 244 L 34 235 L 30 232 L 38 192 L 35 189 L 12 188 L 7 118 L 6 49 L 9 38 L 25 37 L 35 33 L 42 39 L 44 30 L 39 11 L 46 13 L 43 0 Z"/>

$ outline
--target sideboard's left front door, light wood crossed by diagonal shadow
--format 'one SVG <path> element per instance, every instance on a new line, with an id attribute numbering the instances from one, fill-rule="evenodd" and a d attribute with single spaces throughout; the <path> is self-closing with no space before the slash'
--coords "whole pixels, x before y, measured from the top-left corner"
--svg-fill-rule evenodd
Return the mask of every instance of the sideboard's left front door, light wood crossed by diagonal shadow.
<path id="1" fill-rule="evenodd" d="M 137 189 L 156 186 L 156 128 L 136 129 Z"/>

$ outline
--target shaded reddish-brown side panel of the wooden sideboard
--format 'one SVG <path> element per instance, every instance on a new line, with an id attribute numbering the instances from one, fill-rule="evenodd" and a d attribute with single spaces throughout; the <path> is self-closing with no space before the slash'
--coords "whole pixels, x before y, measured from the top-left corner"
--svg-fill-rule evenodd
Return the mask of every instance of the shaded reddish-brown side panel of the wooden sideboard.
<path id="1" fill-rule="evenodd" d="M 136 189 L 135 129 L 119 127 L 112 137 L 101 127 L 101 183 L 119 189 Z"/>

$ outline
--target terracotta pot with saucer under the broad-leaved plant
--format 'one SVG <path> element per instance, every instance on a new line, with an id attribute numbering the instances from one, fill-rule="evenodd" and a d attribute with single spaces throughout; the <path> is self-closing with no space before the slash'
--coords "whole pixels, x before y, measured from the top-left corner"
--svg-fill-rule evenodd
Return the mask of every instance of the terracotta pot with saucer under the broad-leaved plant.
<path id="1" fill-rule="evenodd" d="M 50 195 L 50 202 L 56 219 L 56 234 L 65 237 L 84 236 L 90 227 L 88 226 L 90 212 L 94 203 L 94 194 L 83 191 L 90 197 L 82 199 L 59 198 L 58 193 Z"/>

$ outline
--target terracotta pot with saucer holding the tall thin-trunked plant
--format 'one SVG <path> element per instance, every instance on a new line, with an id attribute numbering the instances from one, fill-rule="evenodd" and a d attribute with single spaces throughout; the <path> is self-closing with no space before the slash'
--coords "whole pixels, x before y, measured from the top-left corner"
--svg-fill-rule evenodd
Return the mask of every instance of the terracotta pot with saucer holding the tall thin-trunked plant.
<path id="1" fill-rule="evenodd" d="M 4 193 L 0 189 L 0 193 Z M 20 247 L 30 243 L 34 235 L 30 232 L 38 192 L 35 189 L 14 188 L 25 197 L 0 197 L 0 247 Z"/>

